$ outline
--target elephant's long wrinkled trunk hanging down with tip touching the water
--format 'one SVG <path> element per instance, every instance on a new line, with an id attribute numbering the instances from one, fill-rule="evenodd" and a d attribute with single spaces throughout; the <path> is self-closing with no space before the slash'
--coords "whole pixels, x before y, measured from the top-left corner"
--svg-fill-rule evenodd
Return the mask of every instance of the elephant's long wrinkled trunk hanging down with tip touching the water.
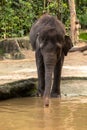
<path id="1" fill-rule="evenodd" d="M 56 64 L 56 56 L 46 57 L 45 59 L 45 91 L 44 91 L 44 105 L 49 106 L 49 97 L 52 84 L 52 73 Z"/>

